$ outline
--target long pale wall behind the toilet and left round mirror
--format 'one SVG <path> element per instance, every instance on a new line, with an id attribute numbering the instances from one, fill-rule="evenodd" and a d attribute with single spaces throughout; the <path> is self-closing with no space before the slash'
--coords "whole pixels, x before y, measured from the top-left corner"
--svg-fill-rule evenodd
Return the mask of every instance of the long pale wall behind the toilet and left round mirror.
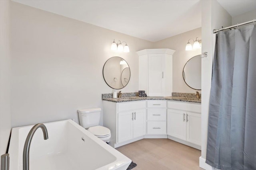
<path id="1" fill-rule="evenodd" d="M 77 109 L 101 107 L 112 93 L 102 68 L 113 56 L 124 58 L 131 78 L 122 92 L 138 91 L 136 51 L 153 43 L 11 2 L 12 127 L 75 119 Z M 126 41 L 130 53 L 110 51 Z M 101 116 L 102 123 L 102 116 Z"/>

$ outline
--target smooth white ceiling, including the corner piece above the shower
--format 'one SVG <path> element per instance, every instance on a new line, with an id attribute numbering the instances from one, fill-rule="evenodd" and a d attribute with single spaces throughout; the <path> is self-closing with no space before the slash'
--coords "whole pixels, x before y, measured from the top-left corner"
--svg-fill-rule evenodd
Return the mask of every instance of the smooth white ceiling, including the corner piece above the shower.
<path id="1" fill-rule="evenodd" d="M 48 12 L 156 42 L 201 27 L 200 0 L 13 0 Z M 232 1 L 232 2 L 231 2 Z M 236 16 L 256 0 L 218 0 Z"/>

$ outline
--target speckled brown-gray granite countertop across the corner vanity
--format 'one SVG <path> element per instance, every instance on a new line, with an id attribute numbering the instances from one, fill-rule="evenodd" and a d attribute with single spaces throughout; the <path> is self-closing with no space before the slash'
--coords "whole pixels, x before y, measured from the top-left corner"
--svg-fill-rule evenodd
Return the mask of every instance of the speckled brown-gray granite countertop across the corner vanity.
<path id="1" fill-rule="evenodd" d="M 185 97 L 138 97 L 138 96 L 131 96 L 131 97 L 124 97 L 124 98 L 102 98 L 102 100 L 106 100 L 109 102 L 115 103 L 122 103 L 122 102 L 134 102 L 140 100 L 172 100 L 172 101 L 179 101 L 179 102 L 190 102 L 190 103 L 201 103 L 201 99 L 197 98 L 185 98 Z"/>

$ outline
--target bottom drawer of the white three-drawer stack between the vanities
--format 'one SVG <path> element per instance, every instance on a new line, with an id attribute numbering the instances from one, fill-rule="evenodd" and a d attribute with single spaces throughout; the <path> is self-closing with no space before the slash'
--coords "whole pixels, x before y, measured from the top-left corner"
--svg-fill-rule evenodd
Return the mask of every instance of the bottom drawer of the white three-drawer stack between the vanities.
<path id="1" fill-rule="evenodd" d="M 148 121 L 147 134 L 166 135 L 166 121 Z"/>

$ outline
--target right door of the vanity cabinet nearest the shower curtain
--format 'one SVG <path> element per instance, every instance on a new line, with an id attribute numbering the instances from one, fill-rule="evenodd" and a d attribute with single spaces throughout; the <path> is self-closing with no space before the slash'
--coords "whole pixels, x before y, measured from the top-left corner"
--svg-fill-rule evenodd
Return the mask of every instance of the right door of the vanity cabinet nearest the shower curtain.
<path id="1" fill-rule="evenodd" d="M 201 114 L 187 112 L 187 141 L 201 146 Z"/>

